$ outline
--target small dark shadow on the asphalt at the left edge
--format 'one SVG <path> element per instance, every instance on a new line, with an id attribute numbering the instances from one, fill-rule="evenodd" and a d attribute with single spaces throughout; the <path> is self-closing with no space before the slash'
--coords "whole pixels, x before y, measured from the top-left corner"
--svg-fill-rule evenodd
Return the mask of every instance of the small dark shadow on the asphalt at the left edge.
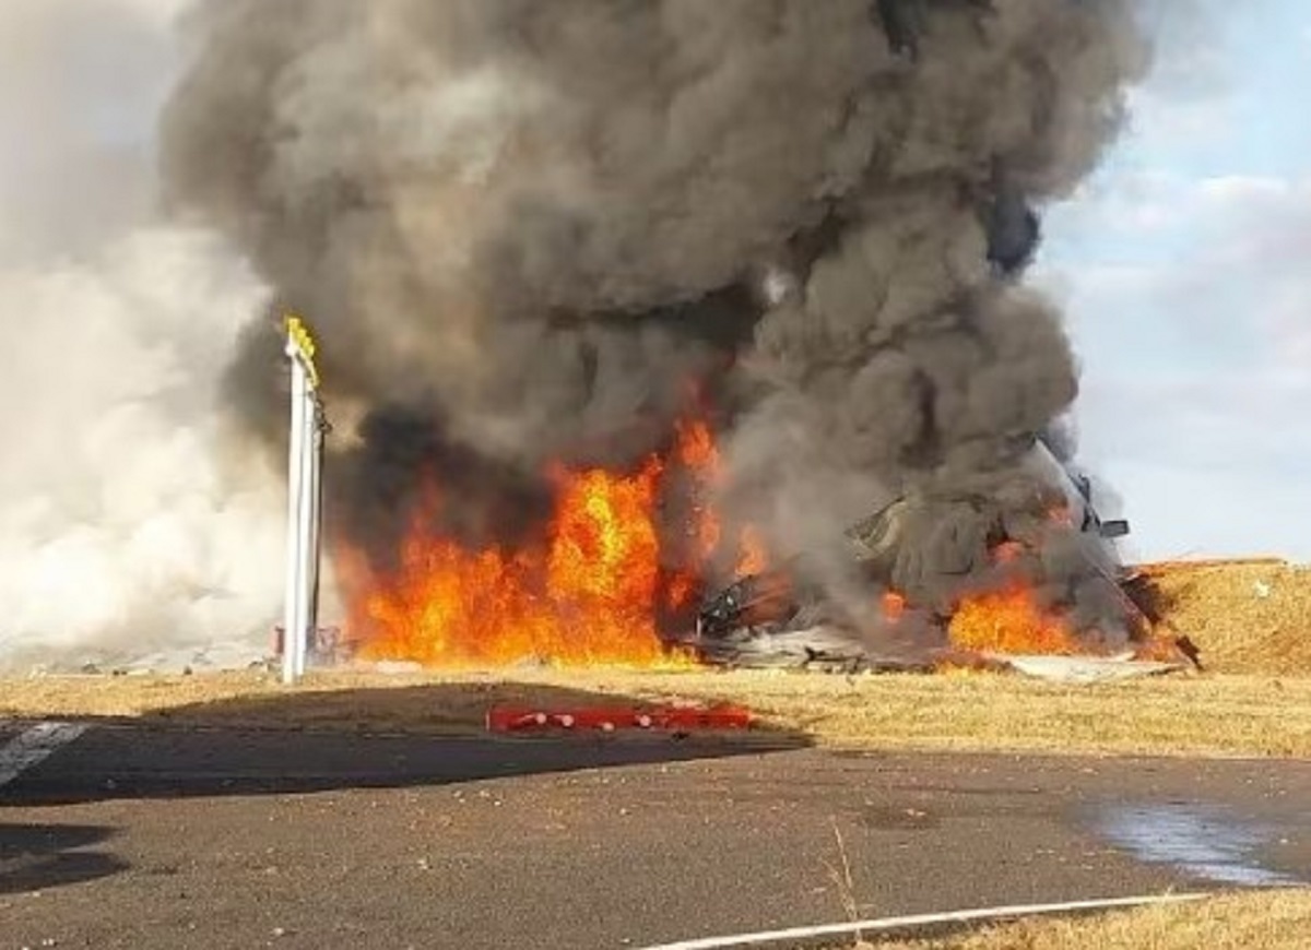
<path id="1" fill-rule="evenodd" d="M 0 824 L 0 894 L 45 891 L 109 877 L 128 865 L 94 848 L 110 828 L 69 824 Z"/>

